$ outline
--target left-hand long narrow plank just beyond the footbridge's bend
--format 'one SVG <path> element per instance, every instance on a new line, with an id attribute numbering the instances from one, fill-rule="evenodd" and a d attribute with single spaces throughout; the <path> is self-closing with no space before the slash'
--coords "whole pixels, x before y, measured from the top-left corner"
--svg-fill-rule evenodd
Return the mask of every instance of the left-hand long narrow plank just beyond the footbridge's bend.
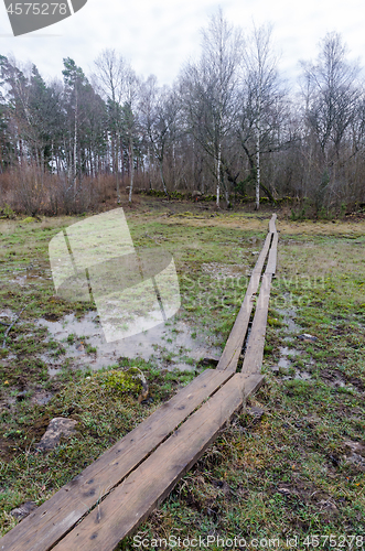
<path id="1" fill-rule="evenodd" d="M 244 345 L 244 341 L 248 328 L 248 323 L 253 312 L 254 295 L 257 293 L 257 289 L 261 279 L 264 263 L 270 248 L 270 242 L 271 242 L 271 234 L 268 234 L 266 236 L 261 252 L 253 270 L 244 302 L 240 306 L 240 310 L 238 312 L 232 332 L 227 338 L 226 346 L 223 350 L 219 363 L 217 365 L 217 369 L 227 369 L 229 371 L 236 371 L 237 369 L 239 355 L 241 352 L 241 347 Z"/>

